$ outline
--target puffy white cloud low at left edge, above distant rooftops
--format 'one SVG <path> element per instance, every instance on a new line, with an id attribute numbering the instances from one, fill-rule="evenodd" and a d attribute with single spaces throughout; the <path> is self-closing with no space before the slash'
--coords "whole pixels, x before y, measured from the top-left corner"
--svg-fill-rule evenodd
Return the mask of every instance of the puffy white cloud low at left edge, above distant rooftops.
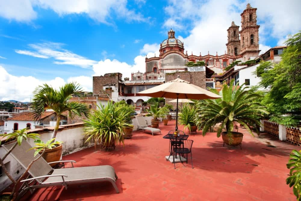
<path id="1" fill-rule="evenodd" d="M 33 76 L 17 77 L 9 74 L 2 66 L 0 66 L 0 74 L 0 101 L 11 99 L 21 102 L 30 101 L 35 88 L 43 83 L 47 83 L 56 89 L 65 84 L 65 81 L 60 77 L 53 80 L 39 80 Z"/>

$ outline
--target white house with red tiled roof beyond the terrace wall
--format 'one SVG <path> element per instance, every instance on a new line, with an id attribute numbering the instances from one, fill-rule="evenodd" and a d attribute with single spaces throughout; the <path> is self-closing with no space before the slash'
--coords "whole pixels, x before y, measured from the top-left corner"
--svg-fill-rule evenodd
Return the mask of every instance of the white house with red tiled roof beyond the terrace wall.
<path id="1" fill-rule="evenodd" d="M 4 133 L 11 133 L 14 130 L 23 128 L 35 129 L 36 127 L 53 126 L 55 125 L 56 114 L 54 111 L 45 111 L 41 120 L 36 121 L 30 112 L 22 112 L 4 122 Z M 60 124 L 67 122 L 67 116 L 61 115 Z"/>

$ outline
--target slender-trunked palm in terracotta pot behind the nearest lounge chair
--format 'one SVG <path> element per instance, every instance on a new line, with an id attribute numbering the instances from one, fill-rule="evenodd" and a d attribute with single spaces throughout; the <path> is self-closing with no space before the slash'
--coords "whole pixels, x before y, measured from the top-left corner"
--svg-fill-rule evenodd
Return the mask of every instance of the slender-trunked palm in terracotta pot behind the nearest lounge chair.
<path id="1" fill-rule="evenodd" d="M 82 89 L 79 84 L 74 82 L 67 83 L 64 86 L 60 87 L 59 90 L 53 89 L 48 84 L 38 86 L 33 92 L 33 118 L 40 120 L 41 116 L 47 109 L 51 109 L 56 114 L 56 125 L 54 126 L 51 139 L 55 138 L 61 121 L 61 115 L 63 112 L 68 111 L 69 117 L 73 118 L 75 115 L 88 116 L 89 108 L 84 103 L 79 102 L 70 102 L 70 98 L 73 96 L 81 97 Z M 43 158 L 47 162 L 59 161 L 62 153 L 62 145 L 57 144 L 54 149 L 49 149 L 45 151 Z M 55 166 L 56 164 L 51 164 Z"/>

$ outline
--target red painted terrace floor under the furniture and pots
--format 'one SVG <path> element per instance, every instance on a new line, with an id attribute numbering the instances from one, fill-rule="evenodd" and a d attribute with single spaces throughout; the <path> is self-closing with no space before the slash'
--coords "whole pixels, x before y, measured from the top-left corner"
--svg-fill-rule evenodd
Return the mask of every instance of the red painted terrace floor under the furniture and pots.
<path id="1" fill-rule="evenodd" d="M 194 140 L 191 161 L 173 164 L 165 160 L 169 140 L 163 134 L 174 128 L 160 124 L 162 135 L 133 132 L 125 147 L 101 151 L 94 147 L 64 156 L 76 160 L 75 166 L 112 165 L 118 179 L 119 194 L 110 183 L 92 183 L 39 189 L 31 200 L 295 200 L 285 179 L 286 163 L 292 149 L 279 140 L 244 135 L 243 149 L 223 147 L 216 133 L 205 137 L 201 131 Z M 179 129 L 182 129 L 180 126 Z M 246 130 L 239 128 L 240 132 Z M 265 137 L 268 137 L 265 136 Z M 276 148 L 266 146 L 269 141 Z M 28 199 L 26 199 L 28 200 Z"/>

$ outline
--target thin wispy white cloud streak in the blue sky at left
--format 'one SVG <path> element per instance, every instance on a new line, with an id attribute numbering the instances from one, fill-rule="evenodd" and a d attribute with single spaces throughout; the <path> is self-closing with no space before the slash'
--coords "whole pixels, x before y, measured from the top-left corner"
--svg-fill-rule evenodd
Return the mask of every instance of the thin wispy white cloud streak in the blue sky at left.
<path id="1" fill-rule="evenodd" d="M 69 50 L 63 49 L 63 45 L 64 44 L 62 43 L 56 42 L 29 44 L 29 47 L 33 49 L 34 52 L 29 50 L 16 50 L 15 52 L 38 58 L 54 58 L 54 64 L 68 64 L 80 66 L 82 68 L 89 68 L 97 63 L 97 61 L 87 59 Z"/>

